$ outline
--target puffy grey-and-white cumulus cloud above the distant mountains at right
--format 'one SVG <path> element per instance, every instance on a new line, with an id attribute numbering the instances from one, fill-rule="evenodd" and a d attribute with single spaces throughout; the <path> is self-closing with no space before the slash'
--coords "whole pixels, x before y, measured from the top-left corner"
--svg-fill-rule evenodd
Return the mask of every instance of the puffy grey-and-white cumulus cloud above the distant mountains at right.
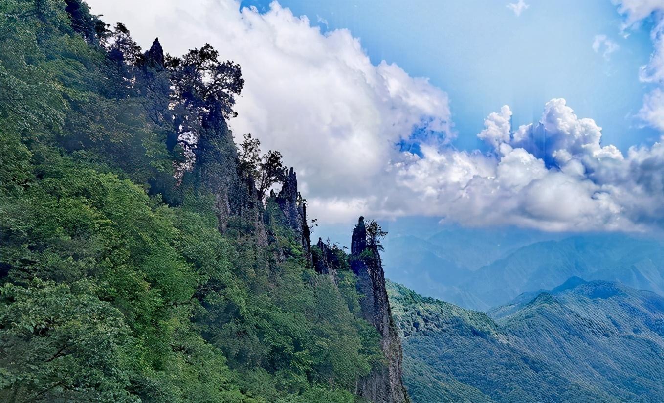
<path id="1" fill-rule="evenodd" d="M 425 147 L 399 164 L 398 183 L 430 214 L 465 224 L 629 231 L 664 218 L 660 143 L 624 156 L 563 99 L 548 102 L 537 124 L 510 130 L 509 116 L 503 107 L 485 120 L 479 137 L 491 153 Z"/>

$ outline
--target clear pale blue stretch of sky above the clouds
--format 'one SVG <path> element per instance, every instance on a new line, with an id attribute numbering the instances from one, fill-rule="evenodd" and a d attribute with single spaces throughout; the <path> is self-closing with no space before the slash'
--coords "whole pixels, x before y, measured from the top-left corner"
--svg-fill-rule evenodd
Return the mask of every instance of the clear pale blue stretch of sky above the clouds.
<path id="1" fill-rule="evenodd" d="M 516 0 L 514 0 L 516 2 Z M 483 119 L 505 104 L 513 124 L 539 120 L 542 106 L 565 98 L 580 118 L 593 118 L 603 142 L 623 151 L 652 143 L 659 133 L 633 116 L 649 86 L 639 66 L 653 50 L 650 25 L 621 33 L 624 17 L 610 0 L 528 0 L 517 17 L 511 1 L 282 0 L 322 31 L 349 29 L 374 64 L 396 62 L 411 76 L 430 78 L 450 96 L 461 149 L 483 149 Z M 270 0 L 245 0 L 259 11 Z M 620 48 L 595 52 L 596 35 Z"/>

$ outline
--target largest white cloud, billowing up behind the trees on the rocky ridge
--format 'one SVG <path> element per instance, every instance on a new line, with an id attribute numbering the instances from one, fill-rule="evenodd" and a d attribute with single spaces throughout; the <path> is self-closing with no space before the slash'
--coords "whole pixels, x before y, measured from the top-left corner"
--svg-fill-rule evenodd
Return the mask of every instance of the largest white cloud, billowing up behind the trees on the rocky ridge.
<path id="1" fill-rule="evenodd" d="M 398 157 L 394 144 L 414 128 L 450 137 L 442 90 L 396 64 L 372 64 L 348 30 L 323 34 L 276 2 L 266 13 L 240 11 L 234 0 L 90 3 L 106 19 L 124 21 L 141 44 L 158 35 L 182 54 L 210 42 L 238 62 L 246 84 L 229 121 L 234 135 L 250 132 L 264 151 L 280 150 L 321 218 L 341 219 L 342 205 L 357 214 L 360 199 L 380 193 L 386 161 Z"/>

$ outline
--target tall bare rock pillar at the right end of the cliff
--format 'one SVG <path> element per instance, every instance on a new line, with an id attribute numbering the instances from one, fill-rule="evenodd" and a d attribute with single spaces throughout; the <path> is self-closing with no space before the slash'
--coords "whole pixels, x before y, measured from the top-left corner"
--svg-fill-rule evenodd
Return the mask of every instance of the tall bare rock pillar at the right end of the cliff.
<path id="1" fill-rule="evenodd" d="M 357 384 L 357 394 L 375 403 L 409 402 L 401 380 L 402 351 L 396 325 L 385 289 L 385 274 L 376 245 L 367 245 L 364 217 L 353 229 L 351 269 L 357 276 L 357 291 L 363 317 L 371 323 L 382 341 L 380 347 L 387 359 L 384 366 L 373 368 Z"/>

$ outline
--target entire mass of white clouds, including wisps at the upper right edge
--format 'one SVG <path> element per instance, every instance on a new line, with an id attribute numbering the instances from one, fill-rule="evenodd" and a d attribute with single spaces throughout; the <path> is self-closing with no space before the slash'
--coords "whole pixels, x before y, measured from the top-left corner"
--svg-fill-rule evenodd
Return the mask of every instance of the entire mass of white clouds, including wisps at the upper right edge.
<path id="1" fill-rule="evenodd" d="M 278 3 L 265 13 L 234 0 L 186 8 L 176 0 L 90 3 L 143 44 L 157 33 L 182 54 L 210 42 L 239 62 L 246 86 L 230 126 L 236 137 L 250 132 L 264 149 L 282 151 L 323 222 L 431 215 L 478 226 L 631 231 L 664 218 L 664 147 L 623 155 L 602 145 L 602 129 L 563 99 L 548 102 L 539 123 L 516 128 L 503 106 L 477 134 L 489 152 L 461 151 L 450 145 L 447 95 L 396 64 L 373 64 L 347 30 L 321 33 Z M 621 3 L 626 24 L 661 4 L 637 3 Z M 653 40 L 661 44 L 661 36 Z M 661 83 L 661 54 L 644 67 L 644 81 Z M 649 96 L 643 116 L 664 127 L 664 92 Z M 416 151 L 402 151 L 404 144 Z"/>

